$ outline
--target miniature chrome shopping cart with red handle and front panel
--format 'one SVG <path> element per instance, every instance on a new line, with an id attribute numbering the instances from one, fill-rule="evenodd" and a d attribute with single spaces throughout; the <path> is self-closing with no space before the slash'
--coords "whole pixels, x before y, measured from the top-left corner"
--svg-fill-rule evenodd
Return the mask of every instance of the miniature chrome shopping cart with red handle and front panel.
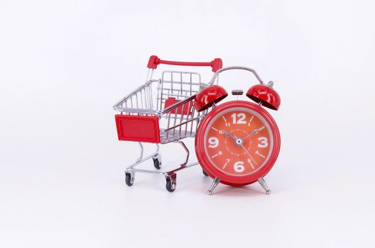
<path id="1" fill-rule="evenodd" d="M 126 168 L 125 181 L 133 185 L 136 172 L 161 174 L 165 176 L 166 188 L 172 192 L 176 188 L 176 172 L 195 166 L 198 162 L 188 164 L 189 150 L 183 140 L 194 137 L 200 120 L 206 111 L 195 111 L 195 94 L 205 88 L 197 72 L 164 71 L 161 79 L 153 79 L 153 71 L 158 64 L 212 67 L 212 72 L 222 68 L 222 60 L 212 62 L 174 62 L 160 60 L 153 55 L 148 60 L 146 83 L 114 105 L 116 128 L 119 140 L 138 142 L 141 155 L 134 164 Z M 142 142 L 156 144 L 156 152 L 143 156 Z M 178 142 L 186 152 L 185 162 L 171 171 L 160 171 L 161 154 L 158 144 Z M 158 170 L 136 169 L 138 164 L 153 159 Z"/>

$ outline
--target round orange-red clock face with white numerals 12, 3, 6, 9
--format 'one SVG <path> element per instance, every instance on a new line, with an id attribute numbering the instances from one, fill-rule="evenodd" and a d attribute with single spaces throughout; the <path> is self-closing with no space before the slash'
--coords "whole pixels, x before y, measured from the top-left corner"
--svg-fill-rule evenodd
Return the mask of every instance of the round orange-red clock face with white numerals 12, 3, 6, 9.
<path id="1" fill-rule="evenodd" d="M 273 133 L 266 119 L 253 109 L 232 107 L 207 123 L 203 147 L 217 170 L 231 176 L 248 176 L 270 159 Z"/>

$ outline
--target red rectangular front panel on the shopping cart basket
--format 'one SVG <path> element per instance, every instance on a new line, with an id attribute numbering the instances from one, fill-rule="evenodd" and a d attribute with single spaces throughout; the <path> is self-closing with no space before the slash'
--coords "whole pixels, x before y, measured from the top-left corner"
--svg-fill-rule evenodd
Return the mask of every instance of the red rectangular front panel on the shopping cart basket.
<path id="1" fill-rule="evenodd" d="M 160 143 L 157 116 L 114 115 L 119 140 Z"/>

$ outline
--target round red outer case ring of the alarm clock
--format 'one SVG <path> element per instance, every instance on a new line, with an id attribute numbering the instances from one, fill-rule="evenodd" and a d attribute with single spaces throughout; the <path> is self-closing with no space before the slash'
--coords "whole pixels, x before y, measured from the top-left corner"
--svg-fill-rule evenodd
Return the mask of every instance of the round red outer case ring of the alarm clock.
<path id="1" fill-rule="evenodd" d="M 247 176 L 231 176 L 216 169 L 216 167 L 211 164 L 210 160 L 206 156 L 204 147 L 205 130 L 207 129 L 214 116 L 229 108 L 237 107 L 249 108 L 252 111 L 256 111 L 257 113 L 259 113 L 267 121 L 273 134 L 273 150 L 271 152 L 271 157 L 268 159 L 266 164 L 264 164 L 263 167 L 259 169 L 259 171 L 256 171 L 254 174 L 250 174 Z M 247 184 L 252 184 L 259 178 L 268 174 L 268 172 L 272 169 L 273 164 L 275 164 L 278 153 L 280 152 L 280 143 L 281 139 L 278 126 L 276 125 L 276 122 L 275 120 L 273 120 L 272 116 L 266 110 L 264 110 L 264 108 L 248 101 L 229 101 L 217 106 L 216 108 L 213 108 L 212 111 L 210 111 L 210 113 L 208 113 L 202 120 L 202 123 L 200 123 L 200 126 L 195 135 L 195 152 L 197 154 L 198 162 L 200 162 L 203 170 L 209 176 L 211 176 L 212 179 L 214 179 L 215 177 L 219 177 L 222 184 L 227 184 L 230 186 L 244 186 Z"/>

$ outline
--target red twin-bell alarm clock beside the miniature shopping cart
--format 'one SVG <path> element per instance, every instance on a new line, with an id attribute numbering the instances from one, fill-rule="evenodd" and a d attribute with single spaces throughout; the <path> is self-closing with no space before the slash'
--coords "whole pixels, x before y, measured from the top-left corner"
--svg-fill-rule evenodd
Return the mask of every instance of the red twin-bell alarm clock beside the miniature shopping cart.
<path id="1" fill-rule="evenodd" d="M 212 85 L 220 72 L 229 69 L 244 69 L 253 72 L 260 84 L 252 86 L 246 96 L 249 101 L 217 103 L 228 94 L 222 86 Z M 275 164 L 280 151 L 280 133 L 272 116 L 265 110 L 277 110 L 281 100 L 273 90 L 273 82 L 264 84 L 254 69 L 226 67 L 214 74 L 205 89 L 195 98 L 197 111 L 212 111 L 205 115 L 195 135 L 197 159 L 205 174 L 214 181 L 207 191 L 211 194 L 217 184 L 244 186 L 259 181 L 266 193 L 271 193 L 264 181 Z M 243 91 L 232 91 L 241 95 Z"/>

